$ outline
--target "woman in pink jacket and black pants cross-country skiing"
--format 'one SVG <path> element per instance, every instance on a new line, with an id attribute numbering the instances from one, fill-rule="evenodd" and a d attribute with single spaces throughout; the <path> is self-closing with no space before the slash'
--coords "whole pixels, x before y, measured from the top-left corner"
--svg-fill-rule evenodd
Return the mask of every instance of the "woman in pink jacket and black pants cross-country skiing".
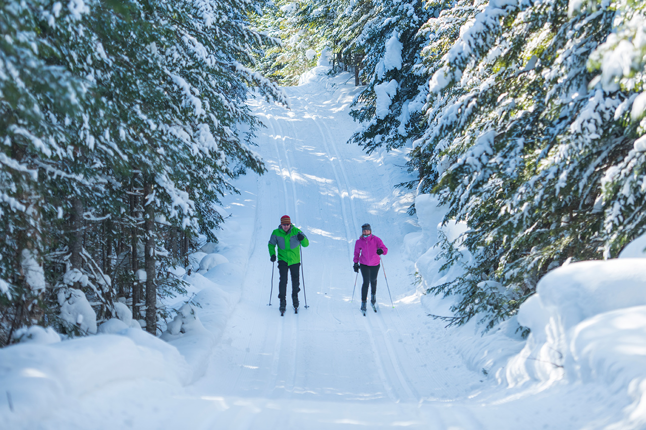
<path id="1" fill-rule="evenodd" d="M 359 272 L 363 285 L 361 286 L 361 310 L 366 312 L 366 302 L 368 301 L 368 283 L 370 283 L 371 296 L 370 303 L 375 305 L 375 294 L 377 294 L 377 274 L 379 273 L 379 263 L 381 254 L 388 254 L 388 248 L 377 236 L 372 234 L 370 224 L 361 226 L 362 235 L 355 242 L 355 265 L 353 269 Z"/>

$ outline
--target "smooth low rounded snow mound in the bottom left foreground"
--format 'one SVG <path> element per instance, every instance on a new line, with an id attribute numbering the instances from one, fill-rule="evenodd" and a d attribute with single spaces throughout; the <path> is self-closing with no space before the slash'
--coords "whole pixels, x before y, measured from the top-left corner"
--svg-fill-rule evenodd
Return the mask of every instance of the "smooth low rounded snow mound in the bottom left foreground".
<path id="1" fill-rule="evenodd" d="M 0 349 L 0 428 L 36 428 L 40 416 L 110 385 L 152 379 L 181 386 L 191 369 L 176 348 L 137 329 Z"/>

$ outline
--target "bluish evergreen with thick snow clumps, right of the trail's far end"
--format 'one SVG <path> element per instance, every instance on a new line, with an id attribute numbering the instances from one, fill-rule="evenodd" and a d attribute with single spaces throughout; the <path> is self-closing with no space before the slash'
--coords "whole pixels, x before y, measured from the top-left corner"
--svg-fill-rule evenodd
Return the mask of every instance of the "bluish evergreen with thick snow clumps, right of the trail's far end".
<path id="1" fill-rule="evenodd" d="M 364 50 L 360 75 L 366 88 L 351 111 L 363 127 L 350 139 L 369 154 L 382 145 L 401 147 L 421 134 L 428 87 L 420 56 L 425 41 L 419 30 L 434 13 L 421 1 L 384 0 L 373 5 L 375 18 L 353 41 L 355 50 Z"/>

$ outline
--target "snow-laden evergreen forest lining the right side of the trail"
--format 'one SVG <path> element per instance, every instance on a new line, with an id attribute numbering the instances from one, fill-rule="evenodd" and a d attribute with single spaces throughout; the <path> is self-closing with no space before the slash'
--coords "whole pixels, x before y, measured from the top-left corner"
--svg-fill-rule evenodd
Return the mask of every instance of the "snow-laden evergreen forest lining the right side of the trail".
<path id="1" fill-rule="evenodd" d="M 646 3 L 271 7 L 280 16 L 266 28 L 288 43 L 261 63 L 267 76 L 291 82 L 311 66 L 307 49 L 359 58 L 366 86 L 351 114 L 362 129 L 351 142 L 410 148 L 419 180 L 402 185 L 437 194 L 445 221 L 468 225 L 441 243 L 464 276 L 428 289 L 459 298 L 450 323 L 475 316 L 491 328 L 547 271 L 616 257 L 646 229 Z"/>

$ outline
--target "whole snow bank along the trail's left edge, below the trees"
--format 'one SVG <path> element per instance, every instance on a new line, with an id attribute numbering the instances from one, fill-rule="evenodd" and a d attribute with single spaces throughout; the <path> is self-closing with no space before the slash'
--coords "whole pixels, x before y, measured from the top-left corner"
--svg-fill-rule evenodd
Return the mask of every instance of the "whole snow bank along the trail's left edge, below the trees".
<path id="1" fill-rule="evenodd" d="M 240 298 L 252 227 L 249 223 L 242 229 L 235 221 L 225 224 L 224 230 L 218 230 L 220 243 L 205 245 L 208 253 L 191 254 L 190 276 L 185 268 L 171 269 L 189 283 L 190 297 L 160 303 L 178 311 L 160 338 L 141 330 L 121 302 L 114 305 L 116 318 L 97 328 L 85 294 L 61 289 L 63 318 L 82 331 L 98 334 L 61 342 L 52 329 L 17 331 L 20 343 L 0 349 L 0 429 L 40 428 L 44 420 L 91 394 L 129 391 L 132 384 L 181 393 L 205 372 L 213 346 Z"/>

